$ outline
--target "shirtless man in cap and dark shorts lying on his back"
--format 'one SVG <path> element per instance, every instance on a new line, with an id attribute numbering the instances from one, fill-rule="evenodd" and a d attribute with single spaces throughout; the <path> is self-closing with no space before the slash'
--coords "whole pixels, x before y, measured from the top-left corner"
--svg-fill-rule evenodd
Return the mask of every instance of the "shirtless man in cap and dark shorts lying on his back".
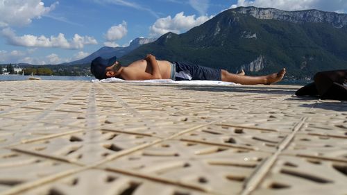
<path id="1" fill-rule="evenodd" d="M 285 76 L 285 68 L 278 73 L 266 76 L 244 76 L 244 74 L 231 74 L 224 69 L 212 69 L 189 62 L 156 60 L 155 56 L 151 54 L 142 60 L 132 62 L 127 67 L 122 67 L 116 57 L 95 58 L 90 71 L 98 79 L 116 77 L 124 80 L 221 80 L 243 85 L 269 85 L 282 80 Z"/>

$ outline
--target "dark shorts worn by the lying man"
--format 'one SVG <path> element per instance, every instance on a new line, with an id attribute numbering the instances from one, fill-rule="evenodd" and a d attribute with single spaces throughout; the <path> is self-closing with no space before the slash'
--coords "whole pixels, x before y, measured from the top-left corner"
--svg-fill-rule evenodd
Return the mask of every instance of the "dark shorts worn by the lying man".
<path id="1" fill-rule="evenodd" d="M 221 80 L 221 69 L 194 65 L 189 62 L 173 62 L 175 76 L 173 80 Z"/>

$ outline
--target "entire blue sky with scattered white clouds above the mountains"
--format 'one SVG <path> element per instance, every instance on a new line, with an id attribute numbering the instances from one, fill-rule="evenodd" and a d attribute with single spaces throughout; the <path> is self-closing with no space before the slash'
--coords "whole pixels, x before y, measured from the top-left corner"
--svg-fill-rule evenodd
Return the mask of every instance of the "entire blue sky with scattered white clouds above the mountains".
<path id="1" fill-rule="evenodd" d="M 346 0 L 0 0 L 0 63 L 58 64 L 136 37 L 184 33 L 237 6 L 346 13 Z"/>

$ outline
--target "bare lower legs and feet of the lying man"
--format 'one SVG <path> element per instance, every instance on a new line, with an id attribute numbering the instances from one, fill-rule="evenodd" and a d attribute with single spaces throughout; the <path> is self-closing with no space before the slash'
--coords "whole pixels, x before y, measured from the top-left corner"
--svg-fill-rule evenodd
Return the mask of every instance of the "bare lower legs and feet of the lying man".
<path id="1" fill-rule="evenodd" d="M 269 74 L 266 76 L 242 76 L 238 74 L 232 74 L 226 70 L 221 70 L 221 80 L 239 83 L 242 85 L 256 85 L 256 84 L 272 84 L 282 80 L 285 76 L 285 69 L 278 71 L 278 73 Z"/>

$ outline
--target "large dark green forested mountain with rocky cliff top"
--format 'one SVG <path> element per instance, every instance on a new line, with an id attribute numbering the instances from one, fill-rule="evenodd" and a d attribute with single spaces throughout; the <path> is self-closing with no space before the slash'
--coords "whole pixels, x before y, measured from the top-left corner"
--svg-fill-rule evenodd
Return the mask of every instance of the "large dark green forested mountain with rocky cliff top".
<path id="1" fill-rule="evenodd" d="M 287 68 L 293 79 L 347 69 L 347 15 L 320 10 L 239 7 L 187 33 L 167 33 L 123 56 L 123 64 L 152 53 L 158 59 L 259 75 Z"/>

